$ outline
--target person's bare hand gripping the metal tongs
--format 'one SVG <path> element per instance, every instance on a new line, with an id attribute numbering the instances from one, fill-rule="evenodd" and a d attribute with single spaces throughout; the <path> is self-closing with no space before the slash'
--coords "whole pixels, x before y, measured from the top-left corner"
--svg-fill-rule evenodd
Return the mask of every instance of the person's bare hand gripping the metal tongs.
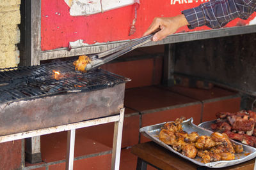
<path id="1" fill-rule="evenodd" d="M 160 31 L 156 32 L 152 38 L 153 41 L 159 41 L 166 38 L 166 36 L 173 34 L 177 29 L 185 25 L 189 24 L 183 14 L 168 18 L 154 18 L 152 24 L 148 27 L 148 30 L 143 34 L 143 36 L 147 36 L 160 29 Z"/>

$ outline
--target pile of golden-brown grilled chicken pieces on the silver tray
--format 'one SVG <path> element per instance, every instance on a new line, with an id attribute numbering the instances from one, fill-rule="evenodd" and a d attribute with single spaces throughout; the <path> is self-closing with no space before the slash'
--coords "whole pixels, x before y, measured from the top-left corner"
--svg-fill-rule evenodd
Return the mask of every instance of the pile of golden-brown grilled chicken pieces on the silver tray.
<path id="1" fill-rule="evenodd" d="M 159 132 L 159 139 L 167 145 L 172 145 L 173 150 L 182 155 L 191 159 L 198 155 L 202 162 L 209 163 L 233 160 L 234 153 L 243 152 L 243 146 L 232 143 L 225 133 L 214 132 L 211 136 L 199 136 L 197 132 L 188 134 L 182 131 L 182 121 L 177 119 L 175 122 L 166 123 Z"/>

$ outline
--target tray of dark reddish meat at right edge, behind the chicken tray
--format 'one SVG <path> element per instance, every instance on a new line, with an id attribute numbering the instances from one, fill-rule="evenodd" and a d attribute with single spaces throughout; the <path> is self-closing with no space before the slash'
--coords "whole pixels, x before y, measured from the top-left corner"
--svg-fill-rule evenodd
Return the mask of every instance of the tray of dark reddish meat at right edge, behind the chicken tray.
<path id="1" fill-rule="evenodd" d="M 254 111 L 219 112 L 216 113 L 216 118 L 198 126 L 214 132 L 224 132 L 230 139 L 256 147 L 256 113 Z"/>

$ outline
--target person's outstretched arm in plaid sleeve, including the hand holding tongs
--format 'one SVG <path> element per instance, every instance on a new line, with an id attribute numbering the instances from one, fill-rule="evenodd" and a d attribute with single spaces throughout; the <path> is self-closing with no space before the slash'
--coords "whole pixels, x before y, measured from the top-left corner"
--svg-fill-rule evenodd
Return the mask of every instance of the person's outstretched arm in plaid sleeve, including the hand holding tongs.
<path id="1" fill-rule="evenodd" d="M 161 29 L 153 37 L 153 41 L 158 41 L 184 25 L 188 25 L 189 29 L 203 25 L 213 29 L 220 28 L 237 17 L 247 19 L 254 11 L 256 0 L 212 0 L 196 8 L 182 11 L 183 15 L 155 18 L 143 36 Z"/>

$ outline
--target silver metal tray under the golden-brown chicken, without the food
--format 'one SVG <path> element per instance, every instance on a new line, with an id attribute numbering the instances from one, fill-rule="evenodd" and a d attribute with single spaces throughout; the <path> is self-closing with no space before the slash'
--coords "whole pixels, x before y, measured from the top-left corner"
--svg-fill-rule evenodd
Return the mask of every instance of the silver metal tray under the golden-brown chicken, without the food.
<path id="1" fill-rule="evenodd" d="M 157 144 L 172 151 L 173 153 L 176 153 L 177 155 L 179 155 L 180 157 L 183 157 L 184 159 L 187 159 L 195 164 L 198 164 L 199 166 L 206 166 L 206 167 L 213 167 L 213 168 L 227 167 L 227 166 L 240 164 L 242 162 L 245 162 L 247 160 L 250 160 L 250 159 L 253 159 L 256 157 L 256 148 L 242 144 L 243 148 L 244 148 L 244 152 L 236 153 L 235 154 L 236 158 L 234 160 L 221 160 L 221 161 L 217 161 L 217 162 L 210 162 L 210 163 L 204 164 L 201 162 L 200 157 L 196 157 L 195 159 L 190 159 L 189 157 L 186 157 L 186 156 L 182 155 L 181 153 L 176 152 L 175 150 L 173 150 L 173 148 L 171 146 L 166 145 L 165 143 L 163 143 L 162 141 L 159 140 L 158 135 L 159 135 L 159 132 L 161 131 L 161 127 L 164 124 L 166 124 L 166 122 L 164 122 L 162 124 L 156 124 L 156 125 L 150 125 L 147 127 L 142 127 L 140 129 L 140 132 L 147 138 L 152 139 L 152 141 L 156 142 Z M 193 118 L 189 118 L 188 120 L 183 121 L 182 128 L 183 128 L 183 131 L 186 131 L 188 133 L 198 132 L 198 134 L 200 136 L 202 136 L 202 135 L 209 136 L 212 133 L 211 131 L 209 131 L 207 129 L 198 127 L 197 125 L 193 124 Z M 238 145 L 241 145 L 241 143 L 237 143 L 234 140 L 231 140 L 231 141 L 233 141 L 234 143 L 236 143 Z M 250 153 L 250 154 L 246 156 L 245 153 Z"/>

